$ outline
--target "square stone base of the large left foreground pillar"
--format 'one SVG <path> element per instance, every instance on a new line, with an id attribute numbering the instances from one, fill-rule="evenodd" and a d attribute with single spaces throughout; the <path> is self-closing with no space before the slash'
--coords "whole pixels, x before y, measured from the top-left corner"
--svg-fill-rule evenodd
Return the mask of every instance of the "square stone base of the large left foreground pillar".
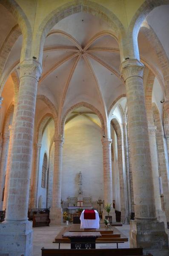
<path id="1" fill-rule="evenodd" d="M 0 223 L 0 253 L 9 256 L 32 256 L 32 221 Z"/>

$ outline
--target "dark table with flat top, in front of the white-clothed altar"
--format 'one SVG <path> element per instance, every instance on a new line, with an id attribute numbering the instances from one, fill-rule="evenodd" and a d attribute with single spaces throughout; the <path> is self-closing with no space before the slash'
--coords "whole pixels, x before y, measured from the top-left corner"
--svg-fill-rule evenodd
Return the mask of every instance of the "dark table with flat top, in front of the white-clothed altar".
<path id="1" fill-rule="evenodd" d="M 96 239 L 100 232 L 65 232 L 63 237 L 69 238 L 71 249 L 95 249 Z"/>

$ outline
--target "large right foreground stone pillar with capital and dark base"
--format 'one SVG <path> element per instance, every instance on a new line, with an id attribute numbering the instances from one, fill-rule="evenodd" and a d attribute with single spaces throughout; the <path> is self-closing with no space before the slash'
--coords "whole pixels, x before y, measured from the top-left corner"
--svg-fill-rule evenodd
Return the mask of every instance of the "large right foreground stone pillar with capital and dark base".
<path id="1" fill-rule="evenodd" d="M 155 210 L 143 69 L 143 64 L 137 59 L 127 59 L 120 65 L 126 84 L 135 202 L 135 220 L 130 224 L 130 247 L 167 249 L 164 223 L 157 221 Z"/>

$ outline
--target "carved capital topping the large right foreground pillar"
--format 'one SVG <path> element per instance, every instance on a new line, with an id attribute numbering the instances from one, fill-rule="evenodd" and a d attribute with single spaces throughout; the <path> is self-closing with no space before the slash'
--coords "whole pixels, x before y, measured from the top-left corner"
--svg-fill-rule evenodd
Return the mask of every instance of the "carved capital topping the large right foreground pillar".
<path id="1" fill-rule="evenodd" d="M 144 65 L 137 59 L 127 59 L 120 64 L 120 73 L 126 81 L 126 79 L 133 76 L 139 76 L 143 78 Z"/>

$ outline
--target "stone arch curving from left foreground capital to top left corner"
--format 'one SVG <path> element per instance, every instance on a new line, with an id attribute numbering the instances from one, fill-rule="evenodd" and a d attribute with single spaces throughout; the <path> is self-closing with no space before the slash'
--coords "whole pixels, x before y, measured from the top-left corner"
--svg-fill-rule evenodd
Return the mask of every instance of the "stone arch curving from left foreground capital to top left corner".
<path id="1" fill-rule="evenodd" d="M 20 26 L 23 35 L 23 47 L 20 61 L 23 61 L 25 58 L 30 58 L 32 48 L 32 28 L 26 14 L 15 0 L 1 0 L 0 4 L 11 12 Z"/>

